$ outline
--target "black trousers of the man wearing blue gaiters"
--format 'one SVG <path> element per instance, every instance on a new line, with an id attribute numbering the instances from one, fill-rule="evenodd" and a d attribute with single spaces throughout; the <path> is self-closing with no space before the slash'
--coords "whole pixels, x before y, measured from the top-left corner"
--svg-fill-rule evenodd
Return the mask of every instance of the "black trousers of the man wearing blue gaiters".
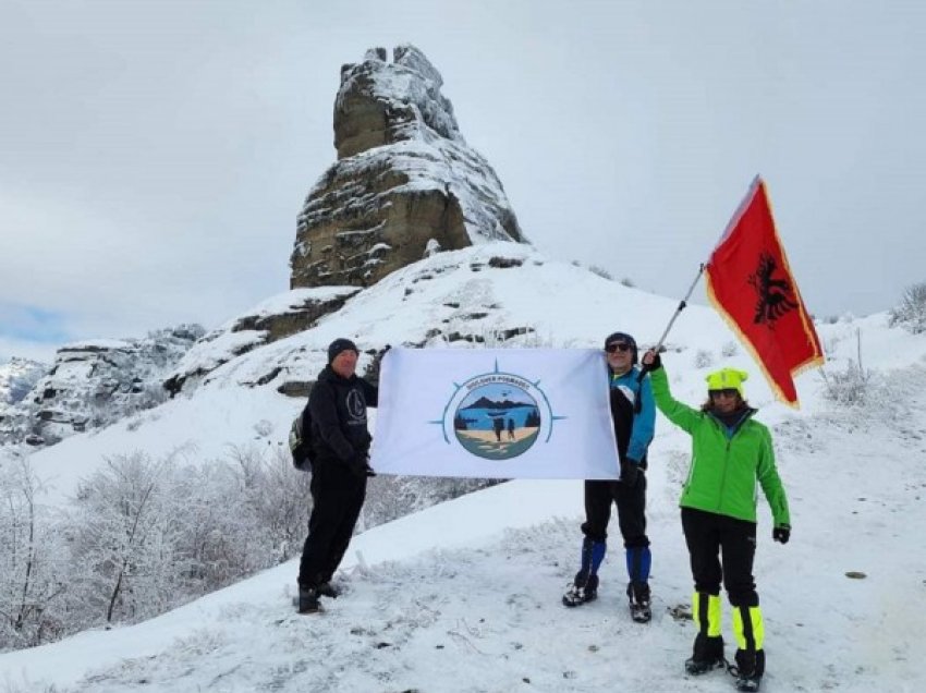
<path id="1" fill-rule="evenodd" d="M 618 506 L 618 526 L 625 548 L 649 546 L 646 536 L 646 474 L 628 488 L 623 482 L 585 482 L 585 522 L 582 532 L 594 542 L 608 538 L 611 503 Z"/>

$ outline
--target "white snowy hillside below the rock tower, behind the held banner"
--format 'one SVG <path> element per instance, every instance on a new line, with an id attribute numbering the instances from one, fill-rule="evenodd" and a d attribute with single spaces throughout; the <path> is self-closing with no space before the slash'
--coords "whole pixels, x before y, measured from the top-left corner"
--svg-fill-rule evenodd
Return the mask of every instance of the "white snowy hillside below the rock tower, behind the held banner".
<path id="1" fill-rule="evenodd" d="M 494 267 L 492 258 L 520 265 Z M 680 283 L 686 282 L 690 278 Z M 284 297 L 275 304 L 285 304 Z M 491 342 L 497 330 L 524 327 L 531 331 L 499 345 L 597 346 L 616 329 L 631 330 L 642 342 L 655 341 L 675 305 L 677 301 L 550 260 L 522 244 L 491 243 L 440 253 L 361 291 L 315 328 L 237 357 L 226 353 L 227 340 L 200 342 L 191 355 L 203 369 L 215 369 L 192 393 L 184 389 L 154 410 L 73 436 L 37 452 L 32 462 L 48 487 L 49 502 L 60 502 L 105 455 L 139 449 L 157 458 L 183 447 L 202 459 L 217 459 L 230 446 L 281 446 L 303 401 L 280 394 L 277 387 L 285 380 L 314 378 L 326 363 L 328 343 L 337 337 L 351 337 L 362 351 L 402 343 L 472 348 L 465 338 Z M 711 311 L 692 306 L 689 314 L 678 323 L 669 345 L 684 350 L 685 363 L 698 351 L 712 350 L 719 358 L 721 344 L 732 335 Z M 361 372 L 370 358 L 362 354 Z M 187 362 L 185 367 L 196 370 L 197 363 Z M 757 372 L 754 392 L 758 403 L 770 397 Z"/>

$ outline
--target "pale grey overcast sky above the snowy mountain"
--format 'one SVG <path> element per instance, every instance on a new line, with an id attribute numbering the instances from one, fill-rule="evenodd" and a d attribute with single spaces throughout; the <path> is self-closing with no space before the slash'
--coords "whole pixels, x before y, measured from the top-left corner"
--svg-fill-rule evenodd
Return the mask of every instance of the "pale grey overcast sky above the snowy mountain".
<path id="1" fill-rule="evenodd" d="M 0 0 L 0 361 L 285 291 L 340 66 L 403 42 L 540 251 L 681 297 L 760 173 L 811 312 L 887 309 L 926 281 L 925 8 Z"/>

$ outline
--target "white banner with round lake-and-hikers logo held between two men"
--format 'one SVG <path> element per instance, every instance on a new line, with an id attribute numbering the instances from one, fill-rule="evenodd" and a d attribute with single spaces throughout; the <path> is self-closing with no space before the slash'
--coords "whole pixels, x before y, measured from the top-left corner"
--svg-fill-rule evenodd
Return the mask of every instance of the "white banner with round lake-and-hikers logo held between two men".
<path id="1" fill-rule="evenodd" d="M 595 349 L 392 349 L 371 465 L 379 474 L 616 479 L 607 374 Z"/>

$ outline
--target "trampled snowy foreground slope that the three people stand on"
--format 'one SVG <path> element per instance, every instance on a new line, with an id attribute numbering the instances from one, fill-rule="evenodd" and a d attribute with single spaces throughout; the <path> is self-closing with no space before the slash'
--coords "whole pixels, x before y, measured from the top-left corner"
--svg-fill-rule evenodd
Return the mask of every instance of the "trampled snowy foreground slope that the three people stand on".
<path id="1" fill-rule="evenodd" d="M 906 375 L 922 391 L 922 366 Z M 921 690 L 924 404 L 907 408 L 904 424 L 918 439 L 828 414 L 779 431 L 794 534 L 772 544 L 763 512 L 764 690 Z M 560 606 L 575 570 L 581 483 L 512 482 L 356 537 L 340 578 L 348 593 L 321 616 L 293 613 L 291 562 L 139 625 L 4 655 L 0 667 L 13 691 L 731 690 L 721 672 L 682 673 L 694 628 L 670 610 L 691 589 L 675 509 L 686 441 L 660 423 L 648 625 L 625 612 L 620 551 L 596 603 Z"/>

